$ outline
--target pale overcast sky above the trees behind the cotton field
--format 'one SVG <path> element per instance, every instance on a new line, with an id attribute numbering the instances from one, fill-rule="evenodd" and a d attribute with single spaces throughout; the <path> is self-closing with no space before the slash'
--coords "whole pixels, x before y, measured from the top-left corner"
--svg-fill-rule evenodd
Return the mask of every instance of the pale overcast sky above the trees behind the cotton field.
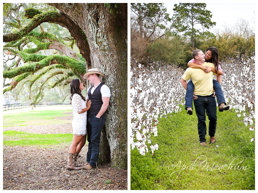
<path id="1" fill-rule="evenodd" d="M 173 15 L 174 3 L 164 3 L 167 12 Z M 233 26 L 237 19 L 244 18 L 249 22 L 250 26 L 254 26 L 254 3 L 206 3 L 206 10 L 211 11 L 211 21 L 216 22 L 216 25 L 210 30 L 221 28 L 223 25 Z"/>

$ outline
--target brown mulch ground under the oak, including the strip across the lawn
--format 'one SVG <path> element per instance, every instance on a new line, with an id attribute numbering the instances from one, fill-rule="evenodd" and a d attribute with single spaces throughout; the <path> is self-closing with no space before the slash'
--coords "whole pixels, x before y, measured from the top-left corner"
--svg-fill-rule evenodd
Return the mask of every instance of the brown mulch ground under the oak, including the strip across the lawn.
<path id="1" fill-rule="evenodd" d="M 46 125 L 44 125 L 46 126 Z M 53 126 L 53 125 L 52 125 Z M 60 130 L 64 129 L 59 125 Z M 52 127 L 37 126 L 39 133 L 56 133 Z M 35 132 L 35 126 L 34 132 Z M 56 127 L 57 128 L 57 127 Z M 31 132 L 31 127 L 17 130 Z M 5 130 L 15 130 L 5 128 Z M 44 130 L 44 132 L 42 132 Z M 58 130 L 58 129 L 55 129 Z M 62 132 L 59 132 L 62 133 Z M 66 133 L 66 132 L 64 132 Z M 79 154 L 77 163 L 85 163 L 87 145 Z M 96 169 L 69 171 L 67 155 L 69 147 L 36 148 L 3 146 L 4 190 L 127 190 L 127 170 L 118 170 L 110 164 Z"/>

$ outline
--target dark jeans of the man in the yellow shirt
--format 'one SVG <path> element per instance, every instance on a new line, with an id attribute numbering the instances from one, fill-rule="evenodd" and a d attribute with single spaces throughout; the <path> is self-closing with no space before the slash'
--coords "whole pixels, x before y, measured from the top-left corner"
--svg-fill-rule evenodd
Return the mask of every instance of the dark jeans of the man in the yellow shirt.
<path id="1" fill-rule="evenodd" d="M 198 134 L 200 143 L 206 142 L 206 116 L 205 111 L 208 116 L 209 121 L 209 136 L 214 137 L 217 126 L 217 107 L 216 99 L 212 97 L 213 94 L 209 96 L 198 96 L 198 99 L 193 100 L 195 112 L 198 118 Z"/>

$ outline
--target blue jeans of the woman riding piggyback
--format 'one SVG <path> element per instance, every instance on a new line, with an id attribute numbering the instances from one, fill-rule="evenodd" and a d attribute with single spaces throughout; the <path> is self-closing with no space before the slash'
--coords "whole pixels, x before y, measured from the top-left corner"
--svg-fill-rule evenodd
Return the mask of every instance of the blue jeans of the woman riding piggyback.
<path id="1" fill-rule="evenodd" d="M 213 79 L 212 83 L 213 83 L 213 88 L 215 90 L 215 94 L 217 97 L 218 105 L 220 105 L 220 103 L 222 103 L 222 102 L 224 102 L 226 105 L 224 94 L 222 92 L 219 82 L 217 80 Z M 187 107 L 193 108 L 193 90 L 194 90 L 193 81 L 190 80 L 187 83 L 187 89 L 186 89 L 186 94 L 185 94 L 185 110 Z"/>

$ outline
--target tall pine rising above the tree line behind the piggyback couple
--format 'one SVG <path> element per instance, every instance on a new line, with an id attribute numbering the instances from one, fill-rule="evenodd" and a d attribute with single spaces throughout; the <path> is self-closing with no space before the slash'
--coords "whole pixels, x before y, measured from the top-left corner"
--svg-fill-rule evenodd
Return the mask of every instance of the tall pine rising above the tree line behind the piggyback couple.
<path id="1" fill-rule="evenodd" d="M 185 32 L 185 36 L 191 38 L 192 49 L 195 49 L 194 41 L 196 39 L 206 39 L 209 37 L 214 37 L 214 34 L 205 31 L 205 29 L 210 29 L 216 22 L 211 22 L 211 11 L 206 10 L 205 3 L 179 3 L 179 5 L 174 5 L 174 16 L 182 17 L 178 22 L 177 29 L 180 32 Z M 197 24 L 202 26 L 203 31 L 195 28 Z"/>

